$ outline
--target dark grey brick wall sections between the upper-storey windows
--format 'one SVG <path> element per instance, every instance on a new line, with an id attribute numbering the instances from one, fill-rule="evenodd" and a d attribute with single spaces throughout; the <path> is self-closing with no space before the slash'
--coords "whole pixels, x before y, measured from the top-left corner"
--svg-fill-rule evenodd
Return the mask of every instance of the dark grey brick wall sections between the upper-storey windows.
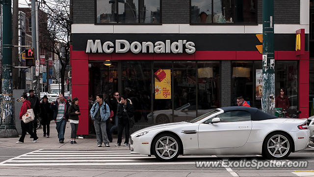
<path id="1" fill-rule="evenodd" d="M 189 24 L 189 0 L 162 0 L 163 24 Z M 73 1 L 74 23 L 94 23 L 94 0 Z M 275 24 L 299 24 L 300 0 L 274 0 Z M 258 0 L 258 23 L 262 24 L 262 0 Z"/>

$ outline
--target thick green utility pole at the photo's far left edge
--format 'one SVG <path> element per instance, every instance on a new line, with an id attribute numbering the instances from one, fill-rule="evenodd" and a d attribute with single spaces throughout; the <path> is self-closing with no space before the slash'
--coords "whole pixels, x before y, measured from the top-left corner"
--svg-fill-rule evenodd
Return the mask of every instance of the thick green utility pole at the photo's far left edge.
<path id="1" fill-rule="evenodd" d="M 12 15 L 11 0 L 0 0 L 3 4 L 2 25 L 2 102 L 0 138 L 19 137 L 15 127 L 12 85 Z M 4 35 L 3 35 L 4 34 Z"/>

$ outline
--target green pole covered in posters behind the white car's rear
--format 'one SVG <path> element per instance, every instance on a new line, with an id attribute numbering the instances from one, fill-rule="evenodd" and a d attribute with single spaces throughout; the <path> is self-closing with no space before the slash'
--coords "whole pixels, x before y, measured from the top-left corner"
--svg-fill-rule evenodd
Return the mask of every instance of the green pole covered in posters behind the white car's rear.
<path id="1" fill-rule="evenodd" d="M 262 111 L 275 115 L 274 0 L 263 0 Z"/>

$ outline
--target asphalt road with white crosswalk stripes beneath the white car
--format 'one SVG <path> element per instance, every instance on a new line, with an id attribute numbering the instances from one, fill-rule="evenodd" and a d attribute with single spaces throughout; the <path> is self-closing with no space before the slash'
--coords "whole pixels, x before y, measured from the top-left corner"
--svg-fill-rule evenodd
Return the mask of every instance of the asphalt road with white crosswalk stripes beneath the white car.
<path id="1" fill-rule="evenodd" d="M 242 162 L 257 162 L 261 166 L 240 166 Z M 154 156 L 130 154 L 128 150 L 76 149 L 0 149 L 0 176 L 35 177 L 297 177 L 314 176 L 314 149 L 291 153 L 285 163 L 295 167 L 274 167 L 274 161 L 262 156 L 179 156 L 175 162 L 160 162 Z M 299 162 L 306 167 L 296 167 Z M 197 167 L 201 163 L 218 162 L 215 167 Z M 280 161 L 282 164 L 283 161 Z M 228 165 L 231 165 L 228 167 Z M 269 167 L 271 166 L 272 167 Z M 57 169 L 57 170 L 56 170 Z"/>

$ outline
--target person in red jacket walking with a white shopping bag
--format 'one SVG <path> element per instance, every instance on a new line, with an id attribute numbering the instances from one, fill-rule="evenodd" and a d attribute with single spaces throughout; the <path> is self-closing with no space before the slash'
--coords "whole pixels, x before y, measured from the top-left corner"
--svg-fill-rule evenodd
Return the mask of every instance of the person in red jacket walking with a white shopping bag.
<path id="1" fill-rule="evenodd" d="M 22 127 L 22 135 L 19 139 L 19 141 L 17 141 L 17 144 L 20 143 L 24 143 L 24 138 L 26 135 L 26 132 L 33 137 L 33 143 L 36 143 L 38 141 L 38 137 L 36 136 L 36 134 L 34 134 L 34 132 L 31 129 L 31 121 L 28 123 L 24 123 L 24 121 L 22 120 L 23 115 L 25 115 L 25 113 L 27 112 L 27 109 L 30 109 L 30 102 L 27 100 L 27 95 L 23 94 L 21 96 L 21 101 L 23 103 L 21 110 L 20 110 L 20 120 L 21 120 L 21 127 Z"/>

